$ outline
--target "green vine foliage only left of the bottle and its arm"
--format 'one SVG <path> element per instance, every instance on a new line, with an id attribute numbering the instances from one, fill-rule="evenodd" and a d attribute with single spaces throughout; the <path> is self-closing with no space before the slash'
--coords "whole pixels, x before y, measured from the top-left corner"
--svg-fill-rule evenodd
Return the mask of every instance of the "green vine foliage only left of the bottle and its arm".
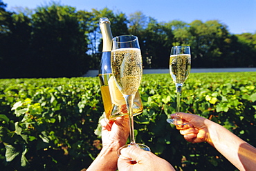
<path id="1" fill-rule="evenodd" d="M 88 167 L 99 152 L 93 146 L 102 114 L 99 91 L 98 80 L 90 78 L 1 80 L 4 170 Z"/>

